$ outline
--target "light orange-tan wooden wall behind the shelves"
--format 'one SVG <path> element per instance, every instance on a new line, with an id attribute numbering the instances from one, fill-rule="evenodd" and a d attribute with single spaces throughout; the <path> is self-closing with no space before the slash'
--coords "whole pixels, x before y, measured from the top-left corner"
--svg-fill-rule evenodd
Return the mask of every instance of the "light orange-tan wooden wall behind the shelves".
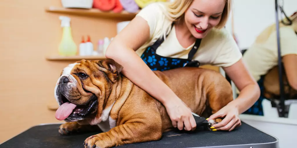
<path id="1" fill-rule="evenodd" d="M 61 122 L 47 105 L 55 101 L 61 70 L 75 61 L 45 59 L 58 53 L 62 35 L 61 14 L 45 12 L 48 6 L 61 6 L 60 0 L 0 1 L 0 143 L 31 126 Z M 95 48 L 98 39 L 116 35 L 119 20 L 65 16 L 77 45 L 82 35 L 90 35 Z"/>

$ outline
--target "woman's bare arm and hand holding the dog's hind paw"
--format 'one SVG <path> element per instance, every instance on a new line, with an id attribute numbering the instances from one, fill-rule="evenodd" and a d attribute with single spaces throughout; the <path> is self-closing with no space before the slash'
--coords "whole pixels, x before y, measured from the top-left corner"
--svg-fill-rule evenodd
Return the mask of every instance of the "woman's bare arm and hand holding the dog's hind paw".
<path id="1" fill-rule="evenodd" d="M 232 131 L 236 126 L 241 125 L 239 114 L 248 110 L 260 97 L 260 88 L 254 78 L 248 72 L 242 59 L 234 65 L 223 68 L 230 79 L 240 91 L 238 98 L 231 101 L 209 119 L 223 118 L 222 122 L 214 125 L 217 130 Z"/>

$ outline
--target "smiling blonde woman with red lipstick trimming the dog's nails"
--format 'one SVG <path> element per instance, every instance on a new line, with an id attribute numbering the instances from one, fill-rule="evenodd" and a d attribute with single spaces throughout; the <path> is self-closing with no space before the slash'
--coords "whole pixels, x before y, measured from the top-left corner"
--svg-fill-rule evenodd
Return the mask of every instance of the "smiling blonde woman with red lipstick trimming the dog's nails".
<path id="1" fill-rule="evenodd" d="M 191 110 L 152 70 L 222 66 L 241 95 L 209 120 L 225 117 L 214 131 L 231 131 L 241 125 L 238 115 L 259 97 L 259 87 L 245 68 L 232 36 L 223 28 L 229 12 L 229 0 L 150 4 L 115 36 L 105 56 L 120 63 L 123 75 L 165 106 L 174 127 L 187 131 L 196 128 Z"/>

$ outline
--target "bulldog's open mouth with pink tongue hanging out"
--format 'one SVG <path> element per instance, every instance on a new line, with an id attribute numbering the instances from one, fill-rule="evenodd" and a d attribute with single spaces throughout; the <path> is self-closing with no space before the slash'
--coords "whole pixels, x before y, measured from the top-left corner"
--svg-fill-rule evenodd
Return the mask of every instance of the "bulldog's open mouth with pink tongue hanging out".
<path id="1" fill-rule="evenodd" d="M 56 111 L 56 119 L 65 120 L 68 117 L 85 118 L 92 112 L 97 110 L 97 97 L 91 96 L 91 99 L 86 105 L 76 105 L 69 102 L 65 96 L 61 95 L 61 106 Z"/>

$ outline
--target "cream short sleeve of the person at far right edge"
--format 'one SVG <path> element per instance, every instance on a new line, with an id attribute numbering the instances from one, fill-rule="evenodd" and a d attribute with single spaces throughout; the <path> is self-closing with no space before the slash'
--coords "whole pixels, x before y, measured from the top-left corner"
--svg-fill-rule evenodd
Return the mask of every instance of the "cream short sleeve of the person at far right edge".
<path id="1" fill-rule="evenodd" d="M 281 55 L 297 54 L 297 34 L 292 28 L 282 27 L 279 29 L 279 41 Z M 275 54 L 277 55 L 277 32 L 271 34 L 267 43 L 268 46 L 274 46 Z"/>

